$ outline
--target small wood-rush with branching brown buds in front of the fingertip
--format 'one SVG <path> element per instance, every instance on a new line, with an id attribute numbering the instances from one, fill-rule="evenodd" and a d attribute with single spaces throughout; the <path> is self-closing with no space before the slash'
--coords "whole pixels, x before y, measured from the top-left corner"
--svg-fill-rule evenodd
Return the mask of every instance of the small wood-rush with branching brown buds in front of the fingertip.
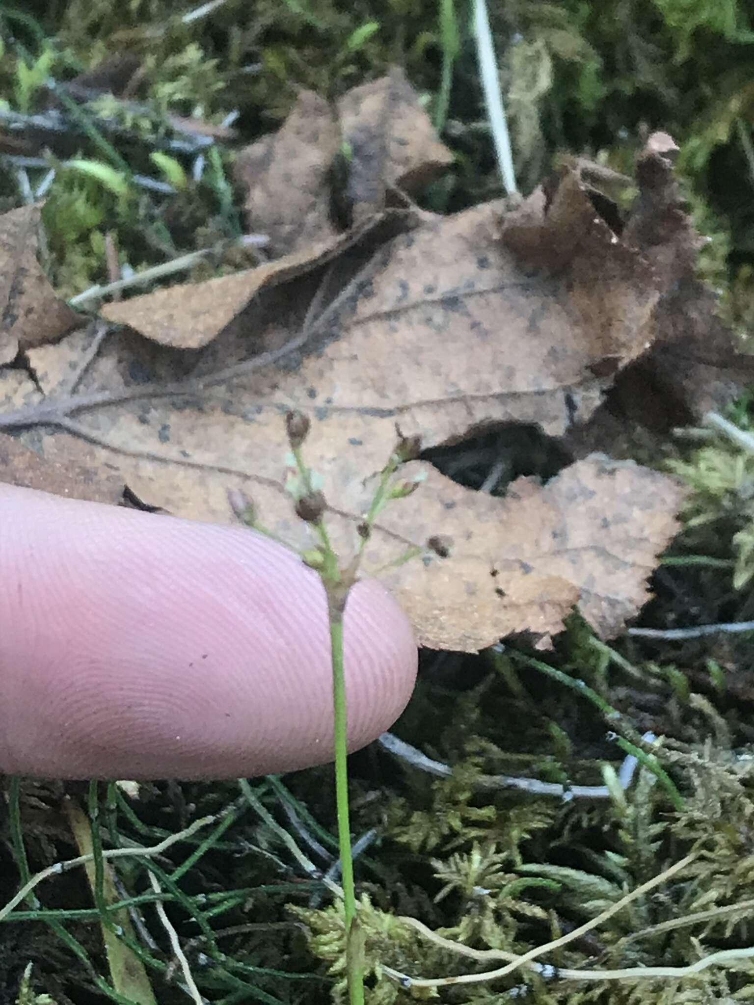
<path id="1" fill-rule="evenodd" d="M 377 518 L 392 499 L 404 498 L 418 488 L 423 476 L 410 480 L 394 478 L 399 466 L 418 456 L 419 437 L 403 436 L 396 426 L 398 438 L 390 457 L 380 471 L 377 487 L 372 500 L 359 524 L 359 543 L 348 562 L 343 564 L 333 548 L 325 524 L 327 500 L 320 487 L 320 477 L 307 466 L 303 445 L 309 434 L 311 420 L 300 411 L 291 411 L 286 416 L 286 430 L 291 446 L 290 473 L 286 489 L 296 505 L 297 515 L 309 524 L 317 538 L 316 546 L 301 553 L 307 565 L 320 576 L 328 599 L 330 621 L 330 647 L 333 667 L 333 712 L 335 736 L 335 792 L 338 816 L 338 843 L 343 877 L 343 912 L 346 930 L 346 972 L 348 994 L 351 1005 L 361 1005 L 364 1001 L 364 946 L 363 933 L 356 913 L 356 892 L 354 888 L 354 866 L 351 853 L 351 827 L 348 804 L 348 722 L 346 712 L 346 681 L 343 650 L 343 614 L 349 591 L 358 579 L 367 543 L 371 539 Z M 259 523 L 253 504 L 240 491 L 228 493 L 230 506 L 247 527 L 272 537 Z M 275 538 L 275 540 L 277 540 Z M 427 543 L 427 548 L 435 554 L 446 556 L 448 545 L 437 541 Z M 391 565 L 403 562 L 421 554 L 420 548 L 410 548 Z"/>

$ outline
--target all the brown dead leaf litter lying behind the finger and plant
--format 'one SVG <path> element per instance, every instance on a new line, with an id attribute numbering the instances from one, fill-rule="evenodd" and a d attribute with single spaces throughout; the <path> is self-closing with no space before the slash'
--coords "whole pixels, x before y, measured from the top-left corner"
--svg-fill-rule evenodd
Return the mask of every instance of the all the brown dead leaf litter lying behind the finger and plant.
<path id="1" fill-rule="evenodd" d="M 344 149 L 345 229 L 330 199 Z M 243 487 L 275 534 L 306 547 L 284 490 L 284 415 L 300 409 L 312 420 L 308 463 L 348 553 L 396 423 L 425 448 L 501 423 L 560 438 L 593 420 L 616 375 L 636 365 L 673 382 L 697 414 L 730 396 L 747 367 L 694 274 L 699 239 L 675 150 L 650 138 L 624 225 L 578 162 L 519 206 L 439 217 L 404 197 L 449 155 L 401 73 L 337 109 L 305 93 L 275 136 L 238 158 L 248 224 L 280 257 L 106 305 L 103 318 L 125 327 L 88 354 L 75 383 L 91 330 L 65 334 L 76 316 L 30 266 L 31 245 L 18 246 L 36 209 L 14 210 L 0 217 L 12 262 L 0 350 L 5 363 L 22 352 L 28 371 L 0 369 L 0 430 L 20 430 L 50 471 L 80 465 L 83 450 L 106 497 L 115 479 L 181 517 L 229 522 L 227 490 Z M 19 303 L 25 322 L 10 306 Z M 3 477 L 24 483 L 18 470 L 9 461 Z M 684 499 L 668 475 L 604 455 L 544 485 L 520 478 L 502 497 L 427 461 L 406 476 L 418 470 L 426 480 L 380 518 L 364 569 L 430 535 L 449 538 L 448 557 L 407 563 L 386 582 L 420 642 L 454 650 L 522 631 L 547 646 L 574 607 L 602 637 L 616 634 L 646 601 Z M 25 476 L 60 490 L 39 471 Z M 90 479 L 74 480 L 80 492 L 65 491 L 89 497 Z"/>

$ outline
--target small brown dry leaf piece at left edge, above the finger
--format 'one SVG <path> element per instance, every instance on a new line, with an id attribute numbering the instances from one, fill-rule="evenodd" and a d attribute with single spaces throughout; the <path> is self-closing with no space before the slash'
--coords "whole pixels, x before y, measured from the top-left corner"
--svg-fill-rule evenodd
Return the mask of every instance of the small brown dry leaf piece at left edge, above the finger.
<path id="1" fill-rule="evenodd" d="M 19 349 L 53 342 L 81 321 L 36 259 L 40 209 L 21 206 L 0 216 L 0 366 Z"/>

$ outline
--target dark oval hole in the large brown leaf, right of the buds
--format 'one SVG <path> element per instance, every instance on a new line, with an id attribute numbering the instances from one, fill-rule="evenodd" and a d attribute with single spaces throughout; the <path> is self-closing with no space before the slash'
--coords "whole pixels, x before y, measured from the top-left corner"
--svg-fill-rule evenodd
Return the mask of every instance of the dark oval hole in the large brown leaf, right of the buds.
<path id="1" fill-rule="evenodd" d="M 505 422 L 486 426 L 457 442 L 424 450 L 421 460 L 467 488 L 503 495 L 508 485 L 522 475 L 549 480 L 573 457 L 539 426 Z"/>

